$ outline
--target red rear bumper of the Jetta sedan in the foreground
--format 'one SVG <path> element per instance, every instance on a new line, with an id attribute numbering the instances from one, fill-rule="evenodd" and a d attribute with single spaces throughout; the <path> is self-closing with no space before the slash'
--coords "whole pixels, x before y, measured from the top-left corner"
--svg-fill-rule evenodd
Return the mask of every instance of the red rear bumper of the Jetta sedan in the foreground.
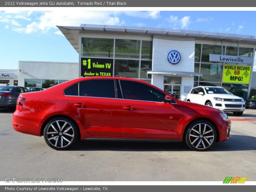
<path id="1" fill-rule="evenodd" d="M 19 114 L 19 115 L 18 115 Z M 12 128 L 15 131 L 26 133 L 30 135 L 41 136 L 41 129 L 39 127 L 39 120 L 33 117 L 25 117 L 26 113 L 14 112 L 12 115 Z M 28 116 L 28 113 L 27 113 Z"/>

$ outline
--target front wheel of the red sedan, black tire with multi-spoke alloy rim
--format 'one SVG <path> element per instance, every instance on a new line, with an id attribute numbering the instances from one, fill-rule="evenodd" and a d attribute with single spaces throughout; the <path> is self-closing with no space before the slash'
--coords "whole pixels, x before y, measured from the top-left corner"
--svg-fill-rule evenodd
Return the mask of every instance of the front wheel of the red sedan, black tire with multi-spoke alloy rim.
<path id="1" fill-rule="evenodd" d="M 206 151 L 214 145 L 216 138 L 216 130 L 211 122 L 196 120 L 188 126 L 185 142 L 192 150 Z"/>

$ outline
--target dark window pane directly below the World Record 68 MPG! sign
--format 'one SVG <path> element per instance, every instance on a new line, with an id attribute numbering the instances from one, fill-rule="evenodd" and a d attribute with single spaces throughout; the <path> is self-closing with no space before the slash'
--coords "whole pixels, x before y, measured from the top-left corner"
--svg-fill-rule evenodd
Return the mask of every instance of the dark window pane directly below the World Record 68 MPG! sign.
<path id="1" fill-rule="evenodd" d="M 249 84 L 231 84 L 231 83 L 223 83 L 222 87 L 227 89 L 229 92 L 233 93 L 238 97 L 247 99 L 248 87 Z"/>

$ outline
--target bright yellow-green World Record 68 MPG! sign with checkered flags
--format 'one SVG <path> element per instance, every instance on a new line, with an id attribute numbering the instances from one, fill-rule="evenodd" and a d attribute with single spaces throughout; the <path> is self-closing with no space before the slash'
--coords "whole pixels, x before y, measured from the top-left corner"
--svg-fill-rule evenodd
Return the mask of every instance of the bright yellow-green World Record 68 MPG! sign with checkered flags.
<path id="1" fill-rule="evenodd" d="M 224 65 L 222 81 L 225 83 L 250 83 L 251 66 Z"/>

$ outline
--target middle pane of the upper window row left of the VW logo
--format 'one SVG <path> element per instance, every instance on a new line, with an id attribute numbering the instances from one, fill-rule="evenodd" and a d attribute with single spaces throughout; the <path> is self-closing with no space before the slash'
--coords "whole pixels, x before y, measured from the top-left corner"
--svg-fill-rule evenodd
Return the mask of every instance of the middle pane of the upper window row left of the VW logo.
<path id="1" fill-rule="evenodd" d="M 115 58 L 139 59 L 140 40 L 116 39 Z"/>

